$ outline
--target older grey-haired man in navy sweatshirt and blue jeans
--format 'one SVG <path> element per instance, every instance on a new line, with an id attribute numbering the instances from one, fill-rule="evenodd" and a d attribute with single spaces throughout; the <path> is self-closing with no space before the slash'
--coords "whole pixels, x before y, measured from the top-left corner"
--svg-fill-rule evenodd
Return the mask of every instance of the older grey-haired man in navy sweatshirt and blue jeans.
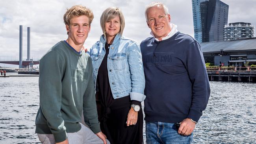
<path id="1" fill-rule="evenodd" d="M 145 17 L 153 36 L 141 42 L 147 144 L 191 143 L 210 96 L 200 45 L 170 24 L 164 4 L 148 5 Z"/>

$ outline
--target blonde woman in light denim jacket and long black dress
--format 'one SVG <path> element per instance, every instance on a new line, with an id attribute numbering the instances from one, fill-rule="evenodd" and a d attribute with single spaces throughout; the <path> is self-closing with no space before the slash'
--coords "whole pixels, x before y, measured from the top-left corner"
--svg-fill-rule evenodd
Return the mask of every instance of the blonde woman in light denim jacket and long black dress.
<path id="1" fill-rule="evenodd" d="M 122 36 L 124 25 L 121 10 L 107 8 L 100 17 L 103 35 L 88 53 L 102 132 L 111 144 L 141 144 L 145 77 L 140 47 Z"/>

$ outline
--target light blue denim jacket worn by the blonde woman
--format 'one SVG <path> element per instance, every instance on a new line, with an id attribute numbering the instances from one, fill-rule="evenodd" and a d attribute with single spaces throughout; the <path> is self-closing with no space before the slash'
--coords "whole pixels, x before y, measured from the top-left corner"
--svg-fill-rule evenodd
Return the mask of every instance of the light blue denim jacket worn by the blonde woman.
<path id="1" fill-rule="evenodd" d="M 93 62 L 93 80 L 96 88 L 98 68 L 106 54 L 106 39 L 100 37 L 87 52 Z M 143 71 L 141 50 L 137 42 L 120 34 L 115 36 L 113 43 L 109 46 L 107 60 L 109 85 L 114 99 L 122 98 L 130 94 L 131 100 L 142 102 L 146 96 L 144 93 L 145 77 Z"/>

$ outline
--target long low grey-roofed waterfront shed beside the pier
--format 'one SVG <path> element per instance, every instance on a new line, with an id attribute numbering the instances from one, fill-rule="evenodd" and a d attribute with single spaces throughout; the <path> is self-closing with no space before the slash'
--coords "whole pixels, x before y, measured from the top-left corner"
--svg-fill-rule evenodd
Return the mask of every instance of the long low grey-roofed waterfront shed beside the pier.
<path id="1" fill-rule="evenodd" d="M 206 63 L 224 66 L 256 65 L 256 37 L 200 43 Z"/>

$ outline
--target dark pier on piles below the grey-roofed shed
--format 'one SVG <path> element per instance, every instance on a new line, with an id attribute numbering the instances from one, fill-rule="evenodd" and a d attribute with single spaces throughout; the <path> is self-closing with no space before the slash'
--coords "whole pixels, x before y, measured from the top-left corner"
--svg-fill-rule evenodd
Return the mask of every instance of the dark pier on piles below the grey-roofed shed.
<path id="1" fill-rule="evenodd" d="M 256 70 L 208 70 L 209 81 L 256 82 Z"/>

